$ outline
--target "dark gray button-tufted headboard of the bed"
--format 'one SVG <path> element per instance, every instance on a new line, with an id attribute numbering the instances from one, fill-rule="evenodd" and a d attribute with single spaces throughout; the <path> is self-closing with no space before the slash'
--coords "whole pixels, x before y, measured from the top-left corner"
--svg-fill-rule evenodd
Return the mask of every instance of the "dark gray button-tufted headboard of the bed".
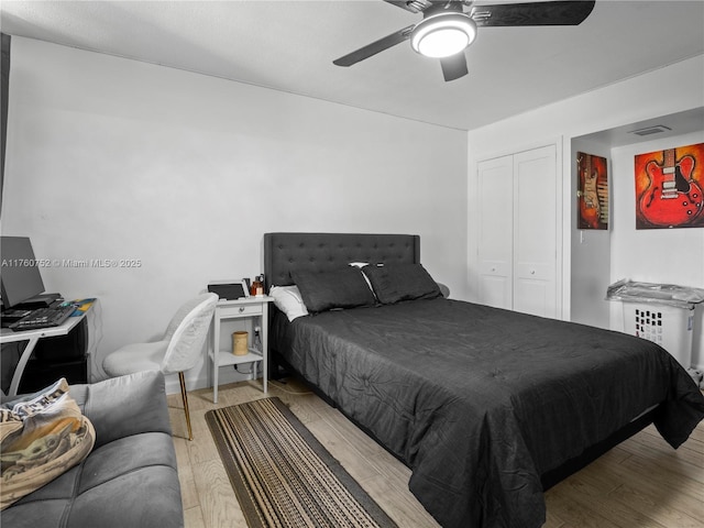
<path id="1" fill-rule="evenodd" d="M 328 272 L 350 262 L 420 263 L 417 234 L 265 233 L 266 287 L 293 284 L 294 271 Z"/>

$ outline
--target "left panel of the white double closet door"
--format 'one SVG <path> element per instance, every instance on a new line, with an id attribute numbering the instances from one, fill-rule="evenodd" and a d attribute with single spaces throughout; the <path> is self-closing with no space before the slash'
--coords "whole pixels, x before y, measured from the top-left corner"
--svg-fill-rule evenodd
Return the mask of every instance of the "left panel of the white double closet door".
<path id="1" fill-rule="evenodd" d="M 479 298 L 496 308 L 513 308 L 513 156 L 479 165 Z"/>

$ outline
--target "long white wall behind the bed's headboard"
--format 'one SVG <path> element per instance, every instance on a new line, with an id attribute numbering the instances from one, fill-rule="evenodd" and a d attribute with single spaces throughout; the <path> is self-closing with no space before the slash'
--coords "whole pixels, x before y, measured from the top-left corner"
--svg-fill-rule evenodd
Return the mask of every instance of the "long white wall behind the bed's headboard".
<path id="1" fill-rule="evenodd" d="M 461 131 L 13 37 L 7 148 L 3 234 L 41 258 L 140 261 L 42 270 L 100 299 L 97 364 L 209 279 L 261 273 L 267 231 L 418 233 L 465 295 Z"/>

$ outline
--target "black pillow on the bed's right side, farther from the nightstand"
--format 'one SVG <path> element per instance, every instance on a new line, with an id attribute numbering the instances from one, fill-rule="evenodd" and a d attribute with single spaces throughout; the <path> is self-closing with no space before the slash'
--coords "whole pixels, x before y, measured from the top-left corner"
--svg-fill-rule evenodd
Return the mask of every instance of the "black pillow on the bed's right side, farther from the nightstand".
<path id="1" fill-rule="evenodd" d="M 385 264 L 365 266 L 380 302 L 393 305 L 400 300 L 433 299 L 442 293 L 438 284 L 420 264 Z"/>

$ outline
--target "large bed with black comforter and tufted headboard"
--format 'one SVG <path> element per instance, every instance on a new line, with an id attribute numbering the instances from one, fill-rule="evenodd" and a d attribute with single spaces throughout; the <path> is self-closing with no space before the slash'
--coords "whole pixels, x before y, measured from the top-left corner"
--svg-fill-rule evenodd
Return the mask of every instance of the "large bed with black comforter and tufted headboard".
<path id="1" fill-rule="evenodd" d="M 403 461 L 446 528 L 540 527 L 551 485 L 651 422 L 676 449 L 704 418 L 649 341 L 447 298 L 417 235 L 266 233 L 264 272 L 271 364 Z"/>

